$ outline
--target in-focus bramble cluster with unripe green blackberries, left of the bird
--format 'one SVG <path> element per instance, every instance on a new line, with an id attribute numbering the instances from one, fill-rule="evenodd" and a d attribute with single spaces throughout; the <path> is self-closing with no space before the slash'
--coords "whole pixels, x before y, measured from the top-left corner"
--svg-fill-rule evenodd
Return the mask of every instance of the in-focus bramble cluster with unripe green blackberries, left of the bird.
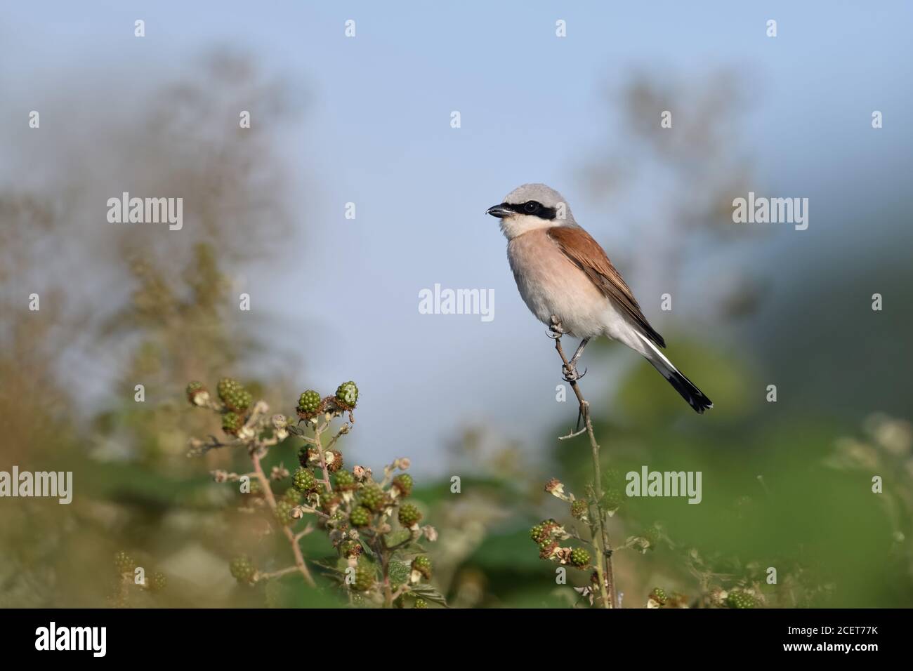
<path id="1" fill-rule="evenodd" d="M 236 557 L 229 569 L 239 584 L 257 585 L 297 573 L 315 586 L 314 571 L 320 571 L 339 585 L 353 605 L 389 608 L 404 603 L 444 603 L 444 597 L 428 582 L 431 561 L 422 544 L 423 539 L 435 540 L 437 532 L 433 527 L 419 527 L 422 514 L 418 507 L 403 502 L 414 487 L 412 476 L 405 473 L 409 460 L 397 459 L 383 467 L 380 479 L 373 477 L 370 468 L 344 468 L 340 442 L 354 425 L 355 383 L 341 383 L 331 396 L 321 397 L 310 389 L 301 393 L 291 419 L 269 414 L 263 401 L 253 403 L 247 390 L 232 378 L 223 378 L 216 392 L 218 401 L 209 396 L 203 383 L 190 383 L 187 399 L 196 407 L 221 414 L 222 427 L 231 439 L 192 439 L 190 455 L 215 448 L 245 454 L 250 472 L 219 470 L 213 476 L 217 482 L 240 483 L 255 512 L 260 508 L 271 513 L 274 529 L 289 541 L 293 560 L 284 569 L 260 571 L 246 555 Z M 299 467 L 289 473 L 280 465 L 267 474 L 263 459 L 271 451 L 289 446 Z M 306 560 L 300 541 L 314 532 L 329 540 L 337 554 L 335 561 Z M 117 561 L 127 567 L 132 560 L 119 555 Z M 163 585 L 163 580 L 153 583 Z M 270 593 L 275 601 L 275 590 Z"/>

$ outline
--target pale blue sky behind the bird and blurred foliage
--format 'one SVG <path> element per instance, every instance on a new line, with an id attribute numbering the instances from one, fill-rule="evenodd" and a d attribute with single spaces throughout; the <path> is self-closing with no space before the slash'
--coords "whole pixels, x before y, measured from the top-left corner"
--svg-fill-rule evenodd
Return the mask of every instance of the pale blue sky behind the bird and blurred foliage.
<path id="1" fill-rule="evenodd" d="M 699 79 L 728 67 L 750 95 L 740 140 L 756 163 L 758 190 L 813 203 L 806 242 L 814 249 L 784 247 L 790 243 L 777 236 L 749 261 L 865 247 L 870 238 L 828 222 L 897 198 L 896 175 L 910 173 L 903 125 L 911 6 L 20 2 L 0 18 L 0 80 L 25 100 L 31 82 L 78 83 L 93 69 L 120 68 L 127 77 L 119 84 L 129 86 L 231 44 L 302 89 L 303 121 L 282 144 L 306 262 L 258 267 L 246 289 L 285 327 L 283 347 L 316 320 L 321 328 L 306 335 L 315 351 L 348 351 L 345 362 L 309 359 L 302 386 L 356 378 L 366 435 L 390 435 L 397 417 L 398 443 L 353 435 L 371 461 L 425 448 L 440 456 L 467 423 L 531 442 L 543 426 L 572 420 L 554 403 L 551 342 L 519 299 L 505 241 L 483 215 L 488 205 L 519 183 L 550 183 L 597 239 L 622 247 L 608 249 L 610 257 L 624 257 L 637 231 L 590 200 L 579 178 L 600 147 L 624 139 L 611 91 L 637 69 Z M 146 22 L 142 40 L 132 37 L 136 18 Z M 774 39 L 765 36 L 769 18 L 778 21 Z M 354 39 L 343 35 L 346 19 L 356 22 Z M 554 35 L 558 19 L 566 38 Z M 117 94 L 115 87 L 112 100 Z M 256 122 L 256 101 L 252 108 Z M 886 127 L 873 133 L 876 109 Z M 449 126 L 451 110 L 461 113 L 458 130 Z M 354 221 L 342 216 L 350 201 Z M 341 266 L 352 299 L 317 296 L 299 316 L 280 314 L 293 298 L 289 287 L 338 275 Z M 493 288 L 495 320 L 420 315 L 418 291 L 435 283 Z M 611 387 L 608 364 L 590 369 L 594 388 Z M 436 403 L 401 417 L 397 399 L 409 395 Z"/>

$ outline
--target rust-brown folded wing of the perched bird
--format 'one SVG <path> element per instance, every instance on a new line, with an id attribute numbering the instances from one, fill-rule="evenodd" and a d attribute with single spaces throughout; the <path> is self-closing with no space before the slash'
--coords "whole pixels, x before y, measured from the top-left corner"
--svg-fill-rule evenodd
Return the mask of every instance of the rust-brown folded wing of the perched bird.
<path id="1" fill-rule="evenodd" d="M 622 276 L 612 265 L 612 261 L 605 256 L 603 247 L 593 240 L 593 236 L 582 228 L 569 226 L 553 226 L 547 233 L 565 256 L 586 273 L 606 298 L 613 300 L 615 305 L 644 330 L 647 338 L 660 347 L 666 347 L 666 341 L 650 326 L 650 322 L 644 317 L 631 288 L 625 284 Z"/>

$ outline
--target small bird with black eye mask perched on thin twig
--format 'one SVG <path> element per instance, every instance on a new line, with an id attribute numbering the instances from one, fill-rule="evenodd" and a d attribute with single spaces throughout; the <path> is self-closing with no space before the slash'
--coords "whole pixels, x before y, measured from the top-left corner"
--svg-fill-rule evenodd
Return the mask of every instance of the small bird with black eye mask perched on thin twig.
<path id="1" fill-rule="evenodd" d="M 510 269 L 530 312 L 549 325 L 552 337 L 566 333 L 582 339 L 564 366 L 566 380 L 582 377 L 576 364 L 583 349 L 593 338 L 605 336 L 652 363 L 698 414 L 713 407 L 663 354 L 666 341 L 650 326 L 631 288 L 603 247 L 576 222 L 561 194 L 542 183 L 522 184 L 486 214 L 500 220 Z"/>

